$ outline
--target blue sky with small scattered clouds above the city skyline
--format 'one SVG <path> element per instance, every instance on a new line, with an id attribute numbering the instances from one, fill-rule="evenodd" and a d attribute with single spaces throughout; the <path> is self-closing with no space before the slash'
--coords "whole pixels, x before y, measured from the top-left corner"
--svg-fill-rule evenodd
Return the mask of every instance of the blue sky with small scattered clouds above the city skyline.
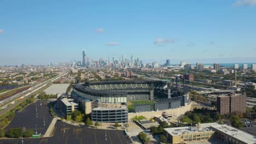
<path id="1" fill-rule="evenodd" d="M 256 62 L 256 0 L 0 1 L 0 65 Z"/>

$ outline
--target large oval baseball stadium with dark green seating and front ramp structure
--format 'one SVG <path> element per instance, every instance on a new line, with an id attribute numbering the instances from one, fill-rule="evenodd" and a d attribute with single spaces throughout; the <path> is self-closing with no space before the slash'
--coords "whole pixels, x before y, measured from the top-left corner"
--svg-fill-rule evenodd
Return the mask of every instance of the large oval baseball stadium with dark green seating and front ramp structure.
<path id="1" fill-rule="evenodd" d="M 72 98 L 92 121 L 127 122 L 127 112 L 174 109 L 189 103 L 188 88 L 170 81 L 98 81 L 73 86 Z M 86 112 L 85 112 L 86 113 Z"/>

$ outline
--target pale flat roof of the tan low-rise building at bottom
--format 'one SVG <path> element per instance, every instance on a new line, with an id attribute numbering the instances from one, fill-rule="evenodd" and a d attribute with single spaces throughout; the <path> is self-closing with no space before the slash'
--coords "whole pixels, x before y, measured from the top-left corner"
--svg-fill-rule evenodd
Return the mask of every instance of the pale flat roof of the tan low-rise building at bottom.
<path id="1" fill-rule="evenodd" d="M 181 134 L 193 134 L 193 133 L 201 133 L 204 131 L 213 131 L 211 129 L 212 125 L 219 125 L 218 123 L 202 123 L 200 124 L 201 128 L 197 129 L 197 127 L 179 127 L 179 128 L 166 128 L 166 130 L 169 134 L 172 136 L 177 136 Z"/>

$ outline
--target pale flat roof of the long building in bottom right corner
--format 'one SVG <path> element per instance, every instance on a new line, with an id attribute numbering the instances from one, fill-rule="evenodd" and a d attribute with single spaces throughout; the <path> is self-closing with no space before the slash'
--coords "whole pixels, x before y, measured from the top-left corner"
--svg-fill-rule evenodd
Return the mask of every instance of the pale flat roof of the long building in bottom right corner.
<path id="1" fill-rule="evenodd" d="M 242 130 L 230 127 L 229 125 L 222 124 L 222 125 L 211 125 L 211 127 L 222 131 L 223 133 L 234 137 L 237 140 L 246 142 L 246 143 L 255 143 L 256 142 L 256 137 L 250 134 L 245 133 Z"/>

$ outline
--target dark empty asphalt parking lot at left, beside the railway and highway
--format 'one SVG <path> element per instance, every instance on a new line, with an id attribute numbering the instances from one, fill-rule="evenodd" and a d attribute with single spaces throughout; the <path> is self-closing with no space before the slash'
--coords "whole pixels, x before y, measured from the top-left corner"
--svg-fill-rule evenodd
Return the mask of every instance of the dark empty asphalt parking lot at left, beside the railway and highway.
<path id="1" fill-rule="evenodd" d="M 38 134 L 44 134 L 52 120 L 53 116 L 49 112 L 47 101 L 42 100 L 41 102 L 41 100 L 38 100 L 36 103 L 27 106 L 21 112 L 16 112 L 13 121 L 11 121 L 5 130 L 25 127 L 27 130 L 32 129 L 35 132 L 37 131 Z"/>

